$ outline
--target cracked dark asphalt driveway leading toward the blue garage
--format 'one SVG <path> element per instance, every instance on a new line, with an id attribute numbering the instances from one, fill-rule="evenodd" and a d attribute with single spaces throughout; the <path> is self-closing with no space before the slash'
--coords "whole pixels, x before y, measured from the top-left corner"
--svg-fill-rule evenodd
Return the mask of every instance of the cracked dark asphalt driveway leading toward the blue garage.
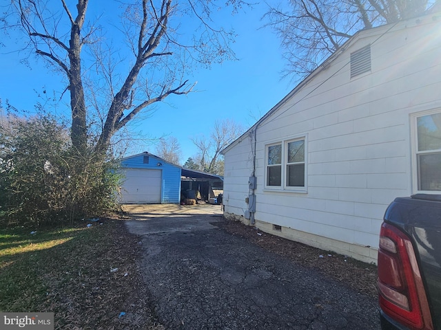
<path id="1" fill-rule="evenodd" d="M 167 329 L 380 329 L 375 299 L 216 226 L 220 206 L 126 206 Z"/>

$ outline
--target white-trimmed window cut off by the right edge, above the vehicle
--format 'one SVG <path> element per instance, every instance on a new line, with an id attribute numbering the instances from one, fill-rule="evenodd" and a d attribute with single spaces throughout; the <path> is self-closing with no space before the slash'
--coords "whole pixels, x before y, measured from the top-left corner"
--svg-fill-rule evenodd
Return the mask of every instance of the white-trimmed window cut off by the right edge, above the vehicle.
<path id="1" fill-rule="evenodd" d="M 441 112 L 416 117 L 416 184 L 419 192 L 441 191 Z"/>

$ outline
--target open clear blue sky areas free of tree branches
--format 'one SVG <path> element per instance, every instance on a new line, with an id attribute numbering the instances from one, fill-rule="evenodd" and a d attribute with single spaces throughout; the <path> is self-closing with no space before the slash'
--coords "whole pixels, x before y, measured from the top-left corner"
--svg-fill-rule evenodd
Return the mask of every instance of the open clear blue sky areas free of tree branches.
<path id="1" fill-rule="evenodd" d="M 215 120 L 232 119 L 246 127 L 256 122 L 294 87 L 289 80 L 280 80 L 284 62 L 280 41 L 269 28 L 262 28 L 260 18 L 265 13 L 265 3 L 246 8 L 232 16 L 227 11 L 217 14 L 223 25 L 232 27 L 238 34 L 232 45 L 238 61 L 213 65 L 211 69 L 196 69 L 187 78 L 197 81 L 194 93 L 171 96 L 155 105 L 148 118 L 136 120 L 130 129 L 143 137 L 154 139 L 162 135 L 174 136 L 181 145 L 181 162 L 196 154 L 191 138 L 208 136 Z M 0 98 L 18 109 L 34 109 L 45 89 L 61 93 L 61 77 L 30 59 L 30 67 L 21 64 L 22 56 L 16 45 L 7 44 L 0 49 Z M 68 102 L 68 97 L 63 100 Z M 132 153 L 155 153 L 150 142 L 139 142 Z"/>

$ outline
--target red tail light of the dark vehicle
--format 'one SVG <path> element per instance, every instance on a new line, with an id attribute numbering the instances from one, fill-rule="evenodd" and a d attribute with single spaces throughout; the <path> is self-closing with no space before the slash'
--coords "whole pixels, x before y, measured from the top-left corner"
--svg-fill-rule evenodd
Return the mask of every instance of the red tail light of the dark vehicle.
<path id="1" fill-rule="evenodd" d="M 380 231 L 378 290 L 384 314 L 412 330 L 433 330 L 412 243 L 404 232 L 387 223 Z"/>

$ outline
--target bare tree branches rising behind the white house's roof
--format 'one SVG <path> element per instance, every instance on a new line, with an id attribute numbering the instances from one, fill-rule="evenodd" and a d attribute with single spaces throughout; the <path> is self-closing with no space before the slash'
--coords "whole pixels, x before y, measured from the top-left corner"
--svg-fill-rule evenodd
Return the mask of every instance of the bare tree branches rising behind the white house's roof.
<path id="1" fill-rule="evenodd" d="M 285 77 L 303 77 L 359 30 L 422 14 L 437 0 L 289 0 L 265 18 L 281 39 Z M 296 75 L 294 75 L 296 74 Z"/>

